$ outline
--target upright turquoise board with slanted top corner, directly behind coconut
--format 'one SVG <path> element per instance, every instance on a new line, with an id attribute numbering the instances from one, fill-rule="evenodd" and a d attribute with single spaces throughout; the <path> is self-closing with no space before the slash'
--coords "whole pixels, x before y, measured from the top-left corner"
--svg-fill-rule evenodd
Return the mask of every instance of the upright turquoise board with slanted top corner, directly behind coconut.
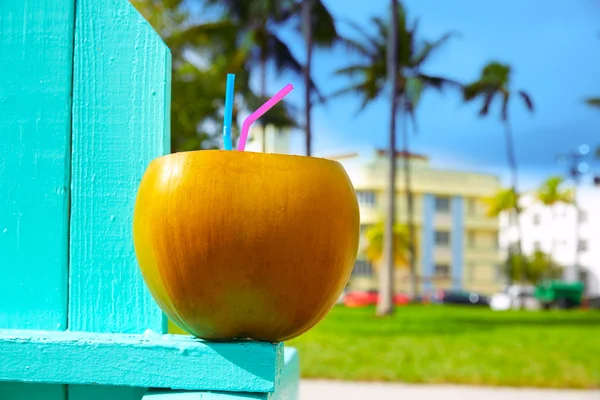
<path id="1" fill-rule="evenodd" d="M 126 0 L 77 0 L 69 329 L 161 332 L 131 233 L 138 183 L 168 151 L 170 53 Z"/>

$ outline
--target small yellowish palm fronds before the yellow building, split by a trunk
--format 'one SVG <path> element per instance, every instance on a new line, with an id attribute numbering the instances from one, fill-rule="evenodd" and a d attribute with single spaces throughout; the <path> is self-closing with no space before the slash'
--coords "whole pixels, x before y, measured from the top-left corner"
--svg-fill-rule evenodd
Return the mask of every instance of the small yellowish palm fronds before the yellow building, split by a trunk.
<path id="1" fill-rule="evenodd" d="M 387 222 L 380 221 L 370 226 L 365 232 L 366 245 L 362 249 L 365 258 L 375 265 L 384 259 L 385 229 Z M 408 266 L 408 226 L 394 224 L 393 235 L 394 265 L 395 267 Z"/>

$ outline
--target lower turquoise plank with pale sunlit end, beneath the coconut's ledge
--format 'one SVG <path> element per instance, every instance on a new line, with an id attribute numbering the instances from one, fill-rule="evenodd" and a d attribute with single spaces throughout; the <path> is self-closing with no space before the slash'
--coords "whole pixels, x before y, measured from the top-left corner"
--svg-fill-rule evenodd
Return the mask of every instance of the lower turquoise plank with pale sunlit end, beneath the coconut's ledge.
<path id="1" fill-rule="evenodd" d="M 275 391 L 271 393 L 150 390 L 143 400 L 298 400 L 300 365 L 296 349 L 286 347 L 284 349 L 284 360 L 285 365 L 281 382 L 277 385 Z"/>

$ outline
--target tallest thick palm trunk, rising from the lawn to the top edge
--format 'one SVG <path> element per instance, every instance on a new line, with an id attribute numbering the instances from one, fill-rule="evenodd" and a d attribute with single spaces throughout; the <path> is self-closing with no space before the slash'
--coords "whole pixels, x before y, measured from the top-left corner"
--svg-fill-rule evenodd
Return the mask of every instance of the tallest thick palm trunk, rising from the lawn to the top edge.
<path id="1" fill-rule="evenodd" d="M 396 222 L 396 113 L 398 111 L 398 3 L 392 0 L 392 23 L 388 38 L 387 72 L 391 83 L 391 115 L 389 136 L 389 174 L 387 193 L 387 219 L 383 234 L 383 265 L 379 271 L 379 299 L 377 315 L 390 315 L 394 312 L 394 223 Z"/>

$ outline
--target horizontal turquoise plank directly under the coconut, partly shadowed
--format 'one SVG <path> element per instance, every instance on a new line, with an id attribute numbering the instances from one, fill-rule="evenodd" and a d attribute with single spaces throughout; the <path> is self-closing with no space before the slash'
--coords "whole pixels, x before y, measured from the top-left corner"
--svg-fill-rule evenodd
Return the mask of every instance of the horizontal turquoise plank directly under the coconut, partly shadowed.
<path id="1" fill-rule="evenodd" d="M 0 330 L 0 381 L 264 393 L 275 389 L 283 362 L 282 344 Z"/>

